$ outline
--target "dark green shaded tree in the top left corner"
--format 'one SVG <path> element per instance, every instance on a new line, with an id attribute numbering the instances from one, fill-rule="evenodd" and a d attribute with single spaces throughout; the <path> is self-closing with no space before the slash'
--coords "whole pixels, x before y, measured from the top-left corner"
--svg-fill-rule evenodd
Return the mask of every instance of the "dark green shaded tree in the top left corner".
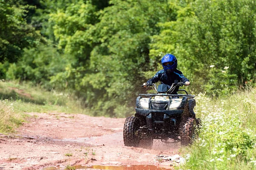
<path id="1" fill-rule="evenodd" d="M 24 48 L 37 43 L 38 34 L 26 24 L 26 8 L 12 1 L 0 1 L 0 61 L 16 62 Z"/>

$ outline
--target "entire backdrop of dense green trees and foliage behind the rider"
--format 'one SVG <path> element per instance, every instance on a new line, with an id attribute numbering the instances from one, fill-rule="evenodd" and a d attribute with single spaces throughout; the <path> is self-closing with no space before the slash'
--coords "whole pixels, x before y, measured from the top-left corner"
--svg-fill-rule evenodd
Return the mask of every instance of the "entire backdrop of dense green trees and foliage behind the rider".
<path id="1" fill-rule="evenodd" d="M 71 91 L 96 115 L 131 114 L 166 53 L 196 92 L 254 83 L 253 0 L 0 0 L 0 20 L 1 79 Z"/>

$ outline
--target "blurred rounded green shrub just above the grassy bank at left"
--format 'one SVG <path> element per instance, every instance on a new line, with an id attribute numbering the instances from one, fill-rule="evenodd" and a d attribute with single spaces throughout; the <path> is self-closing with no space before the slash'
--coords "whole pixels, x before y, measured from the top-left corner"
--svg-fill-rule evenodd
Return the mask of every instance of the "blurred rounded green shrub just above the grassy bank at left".
<path id="1" fill-rule="evenodd" d="M 57 48 L 40 44 L 37 48 L 25 49 L 17 64 L 10 64 L 6 79 L 32 81 L 34 85 L 52 89 L 50 78 L 65 70 L 67 63 L 72 63 L 70 55 L 60 54 Z"/>

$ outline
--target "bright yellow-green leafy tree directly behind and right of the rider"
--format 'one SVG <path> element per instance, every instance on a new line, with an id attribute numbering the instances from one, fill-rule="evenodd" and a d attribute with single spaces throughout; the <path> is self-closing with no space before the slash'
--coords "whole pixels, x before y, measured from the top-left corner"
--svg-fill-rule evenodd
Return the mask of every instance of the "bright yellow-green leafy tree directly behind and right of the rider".
<path id="1" fill-rule="evenodd" d="M 171 52 L 198 89 L 210 79 L 209 65 L 230 67 L 239 83 L 253 78 L 256 5 L 253 0 L 195 0 L 177 11 L 177 21 L 160 24 L 151 57 Z"/>

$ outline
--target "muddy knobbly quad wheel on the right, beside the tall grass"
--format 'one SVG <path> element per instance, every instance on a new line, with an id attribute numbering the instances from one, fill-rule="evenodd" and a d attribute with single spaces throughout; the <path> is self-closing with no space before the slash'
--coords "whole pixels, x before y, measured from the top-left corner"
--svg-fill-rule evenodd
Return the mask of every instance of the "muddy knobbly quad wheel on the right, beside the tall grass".
<path id="1" fill-rule="evenodd" d="M 188 118 L 180 128 L 180 143 L 182 145 L 191 144 L 196 135 L 196 120 L 192 117 Z"/>

